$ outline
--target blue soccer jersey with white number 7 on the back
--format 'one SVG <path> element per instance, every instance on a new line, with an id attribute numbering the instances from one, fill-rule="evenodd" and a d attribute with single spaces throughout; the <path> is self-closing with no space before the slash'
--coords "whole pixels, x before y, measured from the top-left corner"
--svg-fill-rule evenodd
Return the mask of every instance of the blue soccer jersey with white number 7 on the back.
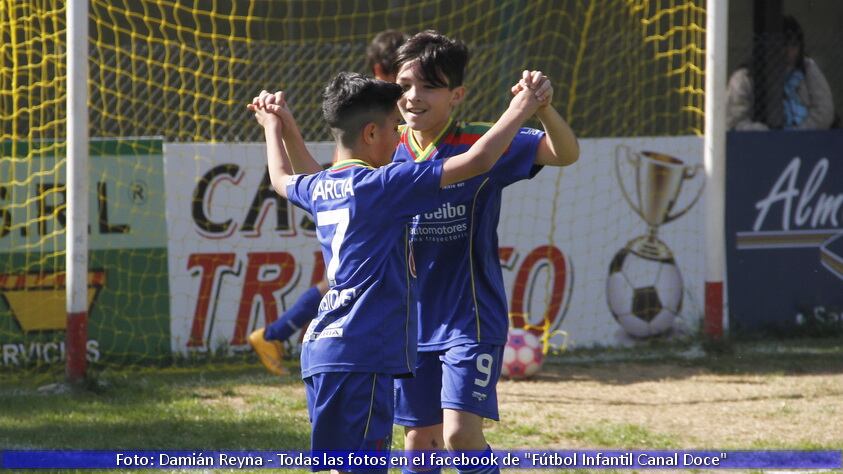
<path id="1" fill-rule="evenodd" d="M 413 372 L 418 323 L 409 223 L 436 207 L 441 175 L 441 162 L 374 169 L 345 160 L 289 178 L 287 199 L 313 216 L 330 285 L 305 333 L 302 378 Z"/>

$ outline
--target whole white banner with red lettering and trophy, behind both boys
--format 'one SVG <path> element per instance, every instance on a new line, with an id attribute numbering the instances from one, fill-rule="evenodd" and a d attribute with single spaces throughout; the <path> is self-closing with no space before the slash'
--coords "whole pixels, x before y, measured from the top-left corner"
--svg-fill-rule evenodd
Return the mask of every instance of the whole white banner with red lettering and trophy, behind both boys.
<path id="1" fill-rule="evenodd" d="M 330 162 L 332 144 L 308 146 Z M 504 191 L 513 325 L 577 346 L 697 331 L 702 139 L 581 147 L 576 165 Z M 272 189 L 263 144 L 167 144 L 165 155 L 172 349 L 245 349 L 250 331 L 322 278 L 313 222 Z"/>

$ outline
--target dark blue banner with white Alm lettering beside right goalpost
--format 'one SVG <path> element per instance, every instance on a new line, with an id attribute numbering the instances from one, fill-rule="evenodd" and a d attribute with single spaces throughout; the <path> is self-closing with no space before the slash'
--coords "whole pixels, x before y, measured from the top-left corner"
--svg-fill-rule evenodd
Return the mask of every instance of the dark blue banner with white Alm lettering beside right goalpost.
<path id="1" fill-rule="evenodd" d="M 730 330 L 843 332 L 843 130 L 732 132 L 726 156 Z"/>

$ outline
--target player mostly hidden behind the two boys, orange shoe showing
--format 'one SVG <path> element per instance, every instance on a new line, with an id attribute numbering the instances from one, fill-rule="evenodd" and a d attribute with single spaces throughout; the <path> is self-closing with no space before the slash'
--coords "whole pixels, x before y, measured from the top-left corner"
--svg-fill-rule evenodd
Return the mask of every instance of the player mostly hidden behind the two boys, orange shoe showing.
<path id="1" fill-rule="evenodd" d="M 385 30 L 375 35 L 366 48 L 366 68 L 375 79 L 395 82 L 398 72 L 395 57 L 398 48 L 407 41 L 408 36 L 398 30 Z M 284 367 L 284 341 L 305 327 L 319 311 L 319 302 L 328 291 L 328 281 L 322 279 L 308 288 L 295 303 L 278 319 L 266 327 L 256 329 L 249 334 L 249 344 L 260 358 L 261 363 L 274 375 L 286 375 Z"/>

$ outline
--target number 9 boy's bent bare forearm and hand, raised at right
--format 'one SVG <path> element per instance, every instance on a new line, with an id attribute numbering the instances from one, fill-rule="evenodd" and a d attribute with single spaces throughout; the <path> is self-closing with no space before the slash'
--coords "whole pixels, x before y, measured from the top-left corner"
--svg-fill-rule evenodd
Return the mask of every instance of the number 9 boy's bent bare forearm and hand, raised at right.
<path id="1" fill-rule="evenodd" d="M 542 123 L 545 136 L 536 150 L 536 164 L 568 166 L 575 163 L 580 157 L 580 145 L 568 122 L 551 105 L 553 86 L 550 79 L 540 71 L 524 71 L 521 81 L 513 86 L 512 93 L 518 93 L 524 86 L 535 90 L 542 103 L 536 111 L 536 117 Z"/>

